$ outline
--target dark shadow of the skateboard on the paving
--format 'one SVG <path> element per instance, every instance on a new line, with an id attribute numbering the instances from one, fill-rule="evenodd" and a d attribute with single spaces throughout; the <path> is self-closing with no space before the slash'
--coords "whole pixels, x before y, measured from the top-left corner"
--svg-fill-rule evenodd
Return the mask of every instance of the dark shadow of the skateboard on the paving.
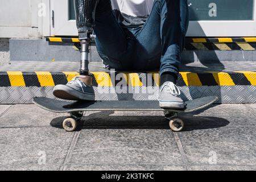
<path id="1" fill-rule="evenodd" d="M 82 129 L 170 129 L 168 120 L 163 115 L 111 115 L 113 112 L 98 112 L 85 116 L 77 131 Z M 199 117 L 191 114 L 179 115 L 185 123 L 183 131 L 214 129 L 224 127 L 229 121 L 217 117 Z M 63 129 L 65 117 L 51 121 L 51 126 Z"/>

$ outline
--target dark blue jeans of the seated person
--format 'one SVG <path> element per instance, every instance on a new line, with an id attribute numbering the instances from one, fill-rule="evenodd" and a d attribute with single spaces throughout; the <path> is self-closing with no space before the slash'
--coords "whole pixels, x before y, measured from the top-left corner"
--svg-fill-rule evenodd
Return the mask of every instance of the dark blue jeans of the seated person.
<path id="1" fill-rule="evenodd" d="M 187 0 L 155 0 L 143 27 L 122 28 L 110 1 L 96 9 L 97 51 L 109 68 L 179 74 L 188 28 Z"/>

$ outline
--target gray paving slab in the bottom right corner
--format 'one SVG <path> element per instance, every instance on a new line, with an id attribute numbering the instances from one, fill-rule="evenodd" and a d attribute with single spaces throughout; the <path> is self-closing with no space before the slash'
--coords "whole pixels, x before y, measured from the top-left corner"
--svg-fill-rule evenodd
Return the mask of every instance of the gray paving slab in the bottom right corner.
<path id="1" fill-rule="evenodd" d="M 256 127 L 228 126 L 177 135 L 190 165 L 256 165 Z"/>

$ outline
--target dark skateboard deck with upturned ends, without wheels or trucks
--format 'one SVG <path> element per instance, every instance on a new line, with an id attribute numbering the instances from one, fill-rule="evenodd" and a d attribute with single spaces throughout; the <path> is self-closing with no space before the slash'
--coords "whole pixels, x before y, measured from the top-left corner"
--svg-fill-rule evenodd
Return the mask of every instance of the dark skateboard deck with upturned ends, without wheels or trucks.
<path id="1" fill-rule="evenodd" d="M 158 101 L 59 101 L 46 97 L 35 97 L 35 105 L 55 113 L 74 111 L 173 111 L 189 113 L 204 109 L 217 101 L 217 97 L 209 96 L 185 102 L 184 109 L 162 109 Z"/>

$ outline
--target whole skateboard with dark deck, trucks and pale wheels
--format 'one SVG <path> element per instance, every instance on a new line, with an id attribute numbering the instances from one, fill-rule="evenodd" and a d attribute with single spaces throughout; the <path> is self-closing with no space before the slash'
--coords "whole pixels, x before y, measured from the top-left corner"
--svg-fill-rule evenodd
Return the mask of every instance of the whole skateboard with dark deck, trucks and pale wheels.
<path id="1" fill-rule="evenodd" d="M 69 113 L 70 117 L 64 119 L 63 128 L 66 131 L 75 131 L 81 121 L 84 111 L 164 111 L 172 131 L 181 131 L 184 127 L 179 113 L 191 113 L 202 110 L 217 101 L 215 96 L 197 98 L 186 101 L 184 109 L 163 109 L 158 101 L 60 101 L 46 97 L 35 97 L 33 102 L 42 109 L 55 113 Z"/>

